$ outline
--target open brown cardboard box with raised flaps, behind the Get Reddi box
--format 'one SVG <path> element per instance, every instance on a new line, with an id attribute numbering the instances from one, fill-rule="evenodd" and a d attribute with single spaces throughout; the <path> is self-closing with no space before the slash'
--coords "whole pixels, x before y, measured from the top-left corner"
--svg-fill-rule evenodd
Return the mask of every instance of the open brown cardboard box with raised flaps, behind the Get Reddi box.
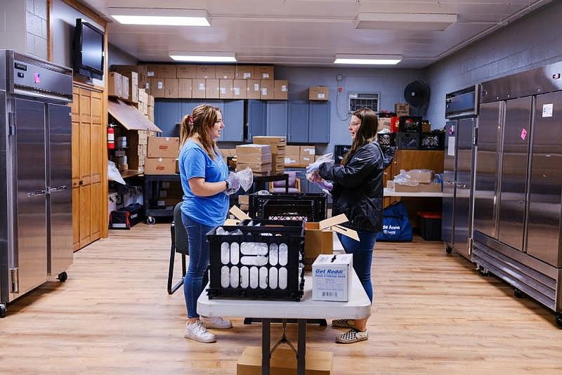
<path id="1" fill-rule="evenodd" d="M 359 241 L 357 232 L 353 229 L 342 227 L 348 218 L 344 213 L 327 218 L 319 223 L 305 223 L 304 225 L 304 270 L 311 270 L 311 265 L 320 254 L 333 254 L 334 242 L 332 232 L 338 232 Z"/>

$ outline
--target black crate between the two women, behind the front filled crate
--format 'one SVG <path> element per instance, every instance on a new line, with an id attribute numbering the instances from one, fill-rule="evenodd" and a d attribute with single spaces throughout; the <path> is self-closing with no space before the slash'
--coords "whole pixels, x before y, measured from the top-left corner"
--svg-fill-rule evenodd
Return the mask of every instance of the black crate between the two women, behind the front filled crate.
<path id="1" fill-rule="evenodd" d="M 327 218 L 325 193 L 285 193 L 249 195 L 248 215 L 268 220 L 303 220 L 318 222 Z"/>

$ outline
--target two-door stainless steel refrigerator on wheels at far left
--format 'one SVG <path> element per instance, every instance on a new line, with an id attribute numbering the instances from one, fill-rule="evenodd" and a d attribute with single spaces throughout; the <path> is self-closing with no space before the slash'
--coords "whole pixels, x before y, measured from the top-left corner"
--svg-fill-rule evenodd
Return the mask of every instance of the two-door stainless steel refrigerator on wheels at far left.
<path id="1" fill-rule="evenodd" d="M 72 70 L 0 50 L 0 316 L 72 264 Z"/>

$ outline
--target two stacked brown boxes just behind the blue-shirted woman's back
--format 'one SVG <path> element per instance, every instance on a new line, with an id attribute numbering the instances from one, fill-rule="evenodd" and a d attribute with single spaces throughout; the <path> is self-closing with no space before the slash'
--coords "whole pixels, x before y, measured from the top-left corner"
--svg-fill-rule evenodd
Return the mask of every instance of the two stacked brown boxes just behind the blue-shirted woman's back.
<path id="1" fill-rule="evenodd" d="M 145 174 L 176 173 L 176 157 L 178 157 L 180 139 L 177 137 L 148 136 Z"/>

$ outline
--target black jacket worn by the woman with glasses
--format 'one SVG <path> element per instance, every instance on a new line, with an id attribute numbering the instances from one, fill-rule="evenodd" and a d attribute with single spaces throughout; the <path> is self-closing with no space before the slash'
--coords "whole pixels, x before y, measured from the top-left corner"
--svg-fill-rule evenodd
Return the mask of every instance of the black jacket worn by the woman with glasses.
<path id="1" fill-rule="evenodd" d="M 334 183 L 332 216 L 345 213 L 344 226 L 363 232 L 382 230 L 383 173 L 394 156 L 394 147 L 384 150 L 376 141 L 353 154 L 346 166 L 322 164 L 320 177 Z"/>

